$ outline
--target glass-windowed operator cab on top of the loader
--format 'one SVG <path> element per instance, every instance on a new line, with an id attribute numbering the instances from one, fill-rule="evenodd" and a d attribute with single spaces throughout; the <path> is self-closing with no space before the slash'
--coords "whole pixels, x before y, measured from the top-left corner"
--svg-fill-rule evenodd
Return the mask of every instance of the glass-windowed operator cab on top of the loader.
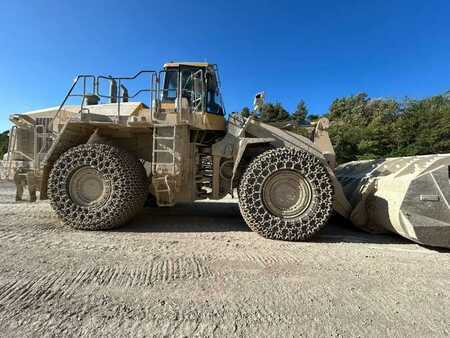
<path id="1" fill-rule="evenodd" d="M 193 114 L 224 116 L 218 70 L 208 63 L 185 62 L 164 65 L 161 108 L 188 108 Z"/>

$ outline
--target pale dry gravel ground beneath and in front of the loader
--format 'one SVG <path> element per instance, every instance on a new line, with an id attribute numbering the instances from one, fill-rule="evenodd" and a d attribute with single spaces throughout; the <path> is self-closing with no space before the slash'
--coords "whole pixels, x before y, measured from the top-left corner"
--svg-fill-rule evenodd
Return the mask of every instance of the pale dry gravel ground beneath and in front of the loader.
<path id="1" fill-rule="evenodd" d="M 342 220 L 266 240 L 230 200 L 75 231 L 13 194 L 0 184 L 1 336 L 450 334 L 448 251 Z"/>

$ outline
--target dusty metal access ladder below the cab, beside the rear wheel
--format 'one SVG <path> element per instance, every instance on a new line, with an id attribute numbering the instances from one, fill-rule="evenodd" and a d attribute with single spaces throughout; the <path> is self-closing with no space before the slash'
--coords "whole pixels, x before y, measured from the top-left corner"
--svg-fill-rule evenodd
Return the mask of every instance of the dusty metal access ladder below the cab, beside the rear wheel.
<path id="1" fill-rule="evenodd" d="M 154 126 L 152 184 L 156 203 L 160 207 L 175 205 L 175 139 L 176 126 L 165 124 Z"/>

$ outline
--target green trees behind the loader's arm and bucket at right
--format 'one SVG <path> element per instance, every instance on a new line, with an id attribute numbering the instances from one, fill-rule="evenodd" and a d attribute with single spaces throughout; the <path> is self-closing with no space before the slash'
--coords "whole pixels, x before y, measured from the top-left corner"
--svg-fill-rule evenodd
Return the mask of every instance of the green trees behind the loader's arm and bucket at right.
<path id="1" fill-rule="evenodd" d="M 249 116 L 248 108 L 241 111 Z M 323 115 L 331 121 L 330 138 L 338 163 L 380 157 L 450 153 L 450 91 L 421 100 L 370 98 L 360 93 L 335 99 Z M 267 103 L 257 115 L 268 123 L 292 121 L 302 131 L 308 113 L 301 100 L 289 114 L 280 103 Z M 303 123 L 306 125 L 306 123 Z"/>

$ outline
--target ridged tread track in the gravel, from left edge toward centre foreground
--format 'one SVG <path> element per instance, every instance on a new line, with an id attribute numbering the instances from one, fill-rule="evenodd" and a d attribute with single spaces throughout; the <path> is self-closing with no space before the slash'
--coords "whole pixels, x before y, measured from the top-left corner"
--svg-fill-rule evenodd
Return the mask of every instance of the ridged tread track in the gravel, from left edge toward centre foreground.
<path id="1" fill-rule="evenodd" d="M 0 287 L 0 305 L 29 304 L 55 296 L 71 297 L 85 286 L 109 288 L 151 287 L 158 282 L 202 279 L 213 273 L 199 257 L 155 259 L 144 267 L 87 266 L 44 275 L 36 280 L 10 281 Z"/>

